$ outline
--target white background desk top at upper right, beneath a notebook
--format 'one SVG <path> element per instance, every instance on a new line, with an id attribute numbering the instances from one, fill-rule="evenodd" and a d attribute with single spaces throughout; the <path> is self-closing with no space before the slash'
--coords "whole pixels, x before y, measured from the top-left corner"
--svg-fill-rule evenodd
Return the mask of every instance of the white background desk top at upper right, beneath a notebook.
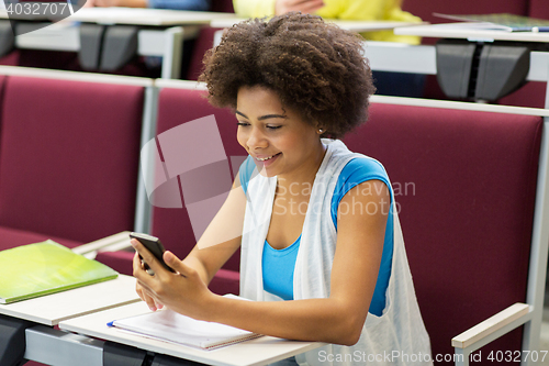
<path id="1" fill-rule="evenodd" d="M 472 23 L 448 23 L 417 26 L 396 27 L 394 34 L 419 35 L 437 38 L 467 38 L 469 41 L 517 41 L 517 42 L 549 42 L 549 33 L 506 32 L 497 30 L 478 29 Z"/>

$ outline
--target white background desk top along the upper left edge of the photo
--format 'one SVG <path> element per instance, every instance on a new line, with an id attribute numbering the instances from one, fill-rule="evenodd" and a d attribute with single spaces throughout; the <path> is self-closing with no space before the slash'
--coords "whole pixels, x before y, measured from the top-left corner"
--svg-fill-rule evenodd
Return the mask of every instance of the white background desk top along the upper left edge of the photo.
<path id="1" fill-rule="evenodd" d="M 199 25 L 209 24 L 220 18 L 235 18 L 232 13 L 212 11 L 183 11 L 143 8 L 82 8 L 68 16 L 69 21 L 98 24 L 133 24 L 133 25 Z M 0 10 L 0 19 L 8 19 L 8 12 Z M 29 18 L 26 18 L 29 19 Z M 45 19 L 36 18 L 36 21 Z"/>

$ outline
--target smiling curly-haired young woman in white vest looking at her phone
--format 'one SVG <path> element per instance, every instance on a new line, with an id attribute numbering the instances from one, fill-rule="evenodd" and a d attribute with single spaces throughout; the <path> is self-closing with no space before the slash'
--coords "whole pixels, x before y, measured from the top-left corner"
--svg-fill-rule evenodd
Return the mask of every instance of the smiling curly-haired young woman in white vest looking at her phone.
<path id="1" fill-rule="evenodd" d="M 133 241 L 137 292 L 156 310 L 329 343 L 300 364 L 404 365 L 429 340 L 382 165 L 339 141 L 373 92 L 359 36 L 290 13 L 229 29 L 205 58 L 210 101 L 235 110 L 249 154 L 194 249 L 164 270 Z M 332 137 L 332 138 L 323 138 Z M 242 248 L 240 301 L 208 284 Z M 283 301 L 285 300 L 285 301 Z M 396 353 L 395 353 L 396 352 Z"/>

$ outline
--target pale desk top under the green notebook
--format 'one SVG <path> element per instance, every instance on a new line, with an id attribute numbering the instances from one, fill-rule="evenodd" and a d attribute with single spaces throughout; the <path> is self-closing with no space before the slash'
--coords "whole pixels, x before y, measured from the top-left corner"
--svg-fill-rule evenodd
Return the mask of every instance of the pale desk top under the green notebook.
<path id="1" fill-rule="evenodd" d="M 120 275 L 104 282 L 0 304 L 0 314 L 57 325 L 63 320 L 136 301 L 141 299 L 135 292 L 135 278 Z"/>

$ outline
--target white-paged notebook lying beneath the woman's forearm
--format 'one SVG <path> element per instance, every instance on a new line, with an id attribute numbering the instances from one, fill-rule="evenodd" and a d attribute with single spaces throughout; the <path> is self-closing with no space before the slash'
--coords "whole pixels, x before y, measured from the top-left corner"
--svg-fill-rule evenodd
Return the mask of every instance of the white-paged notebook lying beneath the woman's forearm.
<path id="1" fill-rule="evenodd" d="M 261 336 L 229 325 L 195 320 L 169 309 L 115 320 L 108 325 L 202 350 L 214 350 Z"/>

